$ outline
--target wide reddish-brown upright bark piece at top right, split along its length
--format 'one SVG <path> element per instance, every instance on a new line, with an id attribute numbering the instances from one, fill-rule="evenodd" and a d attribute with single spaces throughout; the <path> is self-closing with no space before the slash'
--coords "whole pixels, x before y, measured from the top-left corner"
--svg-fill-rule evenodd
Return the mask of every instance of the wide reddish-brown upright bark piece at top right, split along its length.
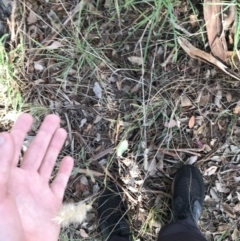
<path id="1" fill-rule="evenodd" d="M 227 42 L 224 34 L 221 0 L 204 0 L 204 20 L 208 43 L 212 54 L 225 64 L 229 64 Z"/>

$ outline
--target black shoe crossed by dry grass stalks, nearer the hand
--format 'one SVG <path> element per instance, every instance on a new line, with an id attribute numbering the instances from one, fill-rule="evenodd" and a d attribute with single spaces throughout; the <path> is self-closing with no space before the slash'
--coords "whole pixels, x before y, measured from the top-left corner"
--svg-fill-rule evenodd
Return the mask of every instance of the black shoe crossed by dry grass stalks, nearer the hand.
<path id="1" fill-rule="evenodd" d="M 118 236 L 130 240 L 130 228 L 125 219 L 126 205 L 122 201 L 121 190 L 116 185 L 110 185 L 98 200 L 99 227 L 103 240 Z"/>

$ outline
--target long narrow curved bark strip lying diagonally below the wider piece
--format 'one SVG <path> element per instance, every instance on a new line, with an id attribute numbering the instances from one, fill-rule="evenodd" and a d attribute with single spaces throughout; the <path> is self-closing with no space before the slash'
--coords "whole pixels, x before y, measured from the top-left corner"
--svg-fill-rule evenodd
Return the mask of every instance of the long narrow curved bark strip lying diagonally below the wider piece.
<path id="1" fill-rule="evenodd" d="M 240 80 L 240 76 L 235 73 L 233 70 L 228 68 L 225 64 L 220 62 L 218 59 L 213 57 L 211 54 L 208 54 L 196 47 L 194 47 L 188 40 L 178 37 L 178 43 L 179 45 L 184 49 L 184 51 L 192 58 L 198 59 L 200 61 L 203 61 L 208 64 L 213 64 L 219 69 L 221 69 L 225 74 L 228 74 L 232 78 L 236 80 Z"/>

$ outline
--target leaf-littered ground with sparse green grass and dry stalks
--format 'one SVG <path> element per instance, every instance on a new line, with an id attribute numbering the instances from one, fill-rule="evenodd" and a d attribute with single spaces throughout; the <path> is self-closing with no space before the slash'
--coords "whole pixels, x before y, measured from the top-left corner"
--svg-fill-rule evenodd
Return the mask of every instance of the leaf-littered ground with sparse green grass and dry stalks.
<path id="1" fill-rule="evenodd" d="M 124 190 L 133 239 L 156 240 L 171 217 L 174 174 L 187 163 L 204 176 L 201 231 L 208 240 L 239 240 L 239 3 L 222 5 L 224 18 L 235 7 L 222 32 L 227 53 L 236 53 L 227 72 L 215 64 L 219 56 L 206 61 L 179 42 L 214 54 L 201 1 L 11 4 L 11 34 L 0 46 L 0 128 L 31 113 L 27 146 L 44 116 L 59 115 L 68 132 L 59 160 L 75 160 L 64 201 L 93 205 L 59 240 L 101 240 L 96 200 L 110 181 Z"/>

